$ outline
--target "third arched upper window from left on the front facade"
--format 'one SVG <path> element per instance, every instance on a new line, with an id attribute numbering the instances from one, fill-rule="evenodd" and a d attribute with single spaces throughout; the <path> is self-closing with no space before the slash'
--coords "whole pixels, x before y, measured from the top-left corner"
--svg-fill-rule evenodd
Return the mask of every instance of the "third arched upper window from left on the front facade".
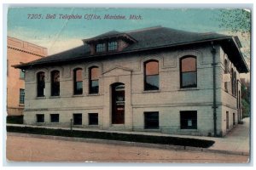
<path id="1" fill-rule="evenodd" d="M 73 70 L 73 94 L 83 94 L 82 69 Z"/>

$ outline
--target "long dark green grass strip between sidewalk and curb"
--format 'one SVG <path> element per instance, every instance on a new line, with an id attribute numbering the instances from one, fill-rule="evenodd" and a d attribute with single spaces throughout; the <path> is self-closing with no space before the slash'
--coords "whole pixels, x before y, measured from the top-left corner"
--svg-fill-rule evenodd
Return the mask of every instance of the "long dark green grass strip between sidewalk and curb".
<path id="1" fill-rule="evenodd" d="M 169 136 L 152 136 L 143 134 L 127 134 L 127 133 L 112 133 L 112 132 L 95 132 L 95 131 L 79 131 L 66 129 L 50 129 L 44 127 L 15 127 L 7 126 L 7 132 L 12 133 L 31 133 L 52 136 L 64 136 L 86 139 L 108 139 L 120 140 L 129 142 L 140 142 L 149 144 L 173 144 L 182 146 L 193 146 L 200 148 L 208 148 L 214 144 L 212 140 L 205 139 L 189 139 Z"/>

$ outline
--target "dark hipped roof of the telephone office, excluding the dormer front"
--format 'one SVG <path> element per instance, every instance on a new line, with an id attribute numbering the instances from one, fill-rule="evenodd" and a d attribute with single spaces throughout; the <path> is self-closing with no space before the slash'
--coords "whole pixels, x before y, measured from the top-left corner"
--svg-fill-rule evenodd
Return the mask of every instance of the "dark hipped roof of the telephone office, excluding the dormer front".
<path id="1" fill-rule="evenodd" d="M 177 47 L 180 45 L 193 44 L 198 42 L 220 42 L 221 44 L 225 42 L 225 40 L 229 40 L 227 44 L 225 44 L 225 48 L 235 48 L 233 50 L 233 54 L 230 60 L 234 60 L 234 63 L 237 63 L 237 70 L 240 72 L 247 72 L 247 64 L 244 61 L 241 51 L 239 49 L 239 44 L 237 44 L 237 40 L 234 37 L 226 36 L 223 34 L 218 34 L 214 32 L 208 33 L 197 33 L 197 32 L 189 32 L 189 31 L 180 31 L 172 28 L 166 27 L 150 27 L 142 30 L 136 31 L 108 31 L 102 35 L 92 37 L 89 39 L 84 39 L 84 42 L 95 41 L 102 38 L 108 37 L 119 37 L 119 36 L 128 36 L 132 39 L 136 40 L 136 42 L 131 43 L 128 47 L 124 48 L 122 51 L 113 52 L 110 54 L 90 54 L 90 46 L 88 44 L 84 44 L 77 48 L 68 49 L 58 54 L 52 54 L 43 59 L 34 60 L 32 62 L 22 64 L 22 65 L 14 65 L 16 68 L 27 69 L 29 67 L 36 65 L 48 65 L 49 63 L 60 63 L 64 61 L 74 61 L 78 59 L 102 59 L 103 56 L 109 56 L 113 54 L 124 54 L 131 53 L 137 51 L 143 51 L 148 49 L 155 48 L 168 48 L 168 47 Z M 230 45 L 229 45 L 230 44 Z M 230 51 L 230 50 L 228 50 Z M 235 62 L 236 60 L 236 62 Z M 239 66 L 239 67 L 238 67 Z"/>

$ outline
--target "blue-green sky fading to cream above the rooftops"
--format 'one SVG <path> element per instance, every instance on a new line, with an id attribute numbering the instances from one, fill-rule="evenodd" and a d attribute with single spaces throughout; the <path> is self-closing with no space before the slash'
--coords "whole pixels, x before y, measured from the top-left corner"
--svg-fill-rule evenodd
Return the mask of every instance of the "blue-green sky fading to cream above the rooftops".
<path id="1" fill-rule="evenodd" d="M 49 14 L 55 15 L 55 18 L 46 19 Z M 81 15 L 82 18 L 60 19 L 60 14 Z M 126 20 L 104 20 L 105 14 L 125 15 Z M 141 20 L 129 20 L 133 14 L 141 16 Z M 107 31 L 132 31 L 151 26 L 165 26 L 183 31 L 213 31 L 237 35 L 243 46 L 241 50 L 249 55 L 248 39 L 241 37 L 239 32 L 235 34 L 220 27 L 220 14 L 217 8 L 9 8 L 7 33 L 9 37 L 35 43 L 48 48 L 48 54 L 55 54 L 82 45 L 82 39 Z M 90 20 L 88 16 L 91 15 L 100 16 L 101 20 Z M 248 62 L 247 59 L 249 65 Z"/>

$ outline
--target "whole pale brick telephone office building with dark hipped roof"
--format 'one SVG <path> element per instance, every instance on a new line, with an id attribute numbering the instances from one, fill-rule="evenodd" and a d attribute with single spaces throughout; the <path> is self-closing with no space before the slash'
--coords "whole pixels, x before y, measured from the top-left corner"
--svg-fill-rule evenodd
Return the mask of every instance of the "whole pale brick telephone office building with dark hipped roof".
<path id="1" fill-rule="evenodd" d="M 241 120 L 237 37 L 159 26 L 83 42 L 15 65 L 26 124 L 222 136 Z"/>

